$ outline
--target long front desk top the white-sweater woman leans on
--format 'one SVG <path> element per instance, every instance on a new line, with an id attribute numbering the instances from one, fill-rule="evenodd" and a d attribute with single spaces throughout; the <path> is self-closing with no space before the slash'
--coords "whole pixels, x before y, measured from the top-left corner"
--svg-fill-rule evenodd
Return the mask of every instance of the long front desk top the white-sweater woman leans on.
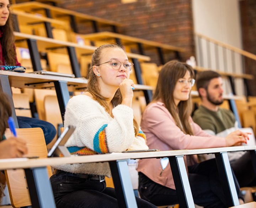
<path id="1" fill-rule="evenodd" d="M 167 156 L 182 156 L 191 154 L 207 154 L 215 152 L 245 151 L 246 146 L 238 147 L 221 147 L 208 148 L 198 150 L 174 150 L 174 151 L 158 151 L 158 152 L 135 152 L 135 153 L 110 153 L 97 154 L 79 157 L 56 157 L 42 159 L 14 158 L 0 159 L 0 170 L 16 169 L 16 168 L 36 168 L 45 167 L 47 165 L 74 164 L 74 163 L 92 163 L 106 162 L 124 159 L 143 159 L 143 158 L 159 158 Z M 256 146 L 247 147 L 248 150 L 255 150 Z M 246 150 L 247 150 L 246 149 Z"/>

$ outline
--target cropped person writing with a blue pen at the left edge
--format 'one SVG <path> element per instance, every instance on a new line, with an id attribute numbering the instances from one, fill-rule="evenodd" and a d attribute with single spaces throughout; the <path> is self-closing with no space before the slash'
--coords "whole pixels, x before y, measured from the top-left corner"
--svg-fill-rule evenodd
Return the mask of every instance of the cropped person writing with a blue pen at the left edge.
<path id="1" fill-rule="evenodd" d="M 21 138 L 11 137 L 6 140 L 4 133 L 8 128 L 7 120 L 11 116 L 11 106 L 7 95 L 0 92 L 0 159 L 22 157 L 27 154 L 26 141 Z M 0 172 L 0 202 L 6 186 L 4 172 Z"/>

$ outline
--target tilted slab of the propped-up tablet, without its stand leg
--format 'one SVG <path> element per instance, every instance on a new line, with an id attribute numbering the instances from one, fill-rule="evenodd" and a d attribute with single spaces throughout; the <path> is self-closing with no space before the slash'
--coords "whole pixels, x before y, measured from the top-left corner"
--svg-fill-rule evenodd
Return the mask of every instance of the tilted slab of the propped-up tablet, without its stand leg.
<path id="1" fill-rule="evenodd" d="M 73 134 L 73 132 L 75 131 L 75 127 L 72 125 L 69 125 L 68 127 L 66 127 L 62 134 L 59 136 L 59 138 L 57 139 L 57 141 L 55 142 L 55 144 L 53 145 L 53 147 L 50 149 L 50 151 L 48 152 L 48 157 L 52 157 L 54 151 L 56 150 L 56 148 L 58 146 L 63 146 L 66 144 L 66 141 L 68 141 L 69 137 Z"/>

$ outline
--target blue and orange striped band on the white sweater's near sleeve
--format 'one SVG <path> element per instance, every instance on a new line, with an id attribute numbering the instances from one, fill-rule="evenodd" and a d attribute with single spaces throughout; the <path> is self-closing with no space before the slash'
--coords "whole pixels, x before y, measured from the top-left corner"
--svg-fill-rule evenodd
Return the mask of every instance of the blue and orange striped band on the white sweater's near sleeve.
<path id="1" fill-rule="evenodd" d="M 107 146 L 107 136 L 106 136 L 107 124 L 104 124 L 94 136 L 94 151 L 97 153 L 107 153 L 109 152 Z"/>

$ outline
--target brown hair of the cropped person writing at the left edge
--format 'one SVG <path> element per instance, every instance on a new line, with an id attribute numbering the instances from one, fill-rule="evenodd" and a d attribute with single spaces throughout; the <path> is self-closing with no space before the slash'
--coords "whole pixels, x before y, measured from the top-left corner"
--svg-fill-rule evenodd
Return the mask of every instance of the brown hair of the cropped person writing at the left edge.
<path id="1" fill-rule="evenodd" d="M 4 135 L 5 129 L 8 127 L 7 120 L 11 116 L 11 106 L 10 100 L 6 94 L 0 92 L 0 140 L 2 140 L 2 136 Z"/>

